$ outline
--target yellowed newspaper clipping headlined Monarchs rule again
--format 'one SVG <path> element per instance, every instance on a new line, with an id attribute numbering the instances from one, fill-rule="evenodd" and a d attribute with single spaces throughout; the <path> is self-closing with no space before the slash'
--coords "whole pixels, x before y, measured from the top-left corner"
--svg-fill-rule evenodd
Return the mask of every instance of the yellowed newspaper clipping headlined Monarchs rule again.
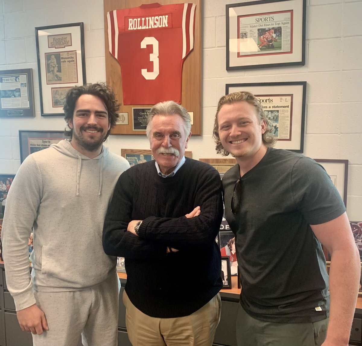
<path id="1" fill-rule="evenodd" d="M 77 51 L 45 53 L 47 84 L 78 83 Z"/>

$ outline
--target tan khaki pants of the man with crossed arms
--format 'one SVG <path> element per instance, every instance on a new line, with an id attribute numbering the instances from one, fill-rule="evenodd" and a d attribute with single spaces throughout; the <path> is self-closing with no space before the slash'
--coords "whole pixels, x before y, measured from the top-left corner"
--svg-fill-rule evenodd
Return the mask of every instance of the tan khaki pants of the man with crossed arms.
<path id="1" fill-rule="evenodd" d="M 123 292 L 126 327 L 133 346 L 211 346 L 220 321 L 219 293 L 189 316 L 150 317 L 138 310 Z"/>

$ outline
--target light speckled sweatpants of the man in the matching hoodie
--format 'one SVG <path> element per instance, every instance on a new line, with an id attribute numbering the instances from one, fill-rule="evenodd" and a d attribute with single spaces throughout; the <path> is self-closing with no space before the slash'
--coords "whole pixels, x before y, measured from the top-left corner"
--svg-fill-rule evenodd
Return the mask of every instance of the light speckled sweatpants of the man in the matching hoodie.
<path id="1" fill-rule="evenodd" d="M 117 346 L 118 276 L 100 285 L 69 292 L 34 291 L 49 330 L 33 335 L 34 346 Z"/>

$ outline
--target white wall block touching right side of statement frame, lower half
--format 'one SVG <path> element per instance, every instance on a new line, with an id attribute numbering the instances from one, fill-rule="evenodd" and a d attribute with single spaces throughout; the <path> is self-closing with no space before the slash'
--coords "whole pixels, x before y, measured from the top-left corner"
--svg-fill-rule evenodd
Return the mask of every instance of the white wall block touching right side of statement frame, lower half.
<path id="1" fill-rule="evenodd" d="M 339 133 L 341 104 L 309 104 L 307 133 Z"/>

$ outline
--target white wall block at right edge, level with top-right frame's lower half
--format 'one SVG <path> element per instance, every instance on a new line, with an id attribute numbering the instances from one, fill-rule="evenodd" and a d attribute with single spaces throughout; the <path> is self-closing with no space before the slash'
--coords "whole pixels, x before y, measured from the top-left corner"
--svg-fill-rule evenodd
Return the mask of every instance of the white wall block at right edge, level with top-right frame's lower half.
<path id="1" fill-rule="evenodd" d="M 362 67 L 362 36 L 342 39 L 343 70 L 361 70 Z"/>

